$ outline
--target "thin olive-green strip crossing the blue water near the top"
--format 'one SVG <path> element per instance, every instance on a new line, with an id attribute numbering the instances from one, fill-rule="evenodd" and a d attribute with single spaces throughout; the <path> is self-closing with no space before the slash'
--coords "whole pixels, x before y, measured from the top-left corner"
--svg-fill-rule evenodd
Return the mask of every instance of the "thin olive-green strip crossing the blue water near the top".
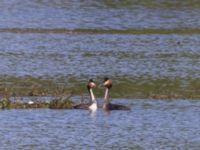
<path id="1" fill-rule="evenodd" d="M 102 28 L 2 28 L 6 33 L 52 33 L 52 34 L 199 34 L 200 28 L 127 28 L 127 29 L 102 29 Z"/>

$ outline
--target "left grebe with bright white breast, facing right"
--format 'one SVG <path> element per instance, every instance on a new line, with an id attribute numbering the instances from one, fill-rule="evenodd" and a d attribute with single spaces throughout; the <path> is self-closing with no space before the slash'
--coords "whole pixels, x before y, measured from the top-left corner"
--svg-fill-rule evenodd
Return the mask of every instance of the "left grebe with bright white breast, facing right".
<path id="1" fill-rule="evenodd" d="M 96 111 L 97 110 L 97 101 L 96 101 L 96 98 L 95 98 L 93 90 L 92 90 L 95 87 L 96 87 L 96 84 L 94 83 L 94 81 L 92 79 L 90 79 L 87 84 L 87 89 L 90 94 L 91 102 L 80 103 L 80 104 L 73 106 L 73 108 L 74 109 L 88 109 L 91 111 Z"/>

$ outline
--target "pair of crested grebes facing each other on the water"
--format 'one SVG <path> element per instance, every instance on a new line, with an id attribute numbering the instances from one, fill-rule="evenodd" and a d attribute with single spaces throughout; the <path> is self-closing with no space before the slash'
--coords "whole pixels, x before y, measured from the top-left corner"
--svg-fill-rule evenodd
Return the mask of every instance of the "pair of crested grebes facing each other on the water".
<path id="1" fill-rule="evenodd" d="M 129 107 L 127 106 L 124 106 L 124 105 L 120 105 L 120 104 L 112 104 L 109 100 L 109 90 L 111 89 L 112 87 L 112 80 L 105 77 L 104 78 L 104 82 L 103 82 L 103 85 L 105 86 L 105 95 L 104 95 L 104 103 L 103 103 L 103 106 L 102 108 L 106 111 L 109 111 L 109 110 L 130 110 Z M 77 104 L 74 106 L 75 109 L 89 109 L 91 111 L 95 111 L 97 110 L 97 101 L 96 101 L 96 98 L 94 96 L 94 93 L 93 93 L 93 88 L 96 87 L 96 84 L 95 82 L 90 79 L 88 81 L 88 84 L 87 84 L 87 89 L 89 91 L 89 94 L 90 94 L 90 98 L 91 98 L 91 102 L 89 103 L 81 103 L 81 104 Z"/>

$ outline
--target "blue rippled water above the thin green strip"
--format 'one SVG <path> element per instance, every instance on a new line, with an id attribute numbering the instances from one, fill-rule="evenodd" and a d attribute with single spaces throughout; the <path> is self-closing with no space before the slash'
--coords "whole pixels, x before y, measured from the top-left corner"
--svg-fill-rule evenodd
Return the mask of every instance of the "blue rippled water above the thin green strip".
<path id="1" fill-rule="evenodd" d="M 199 27 L 199 7 L 187 0 L 10 0 L 0 3 L 0 27 Z"/>

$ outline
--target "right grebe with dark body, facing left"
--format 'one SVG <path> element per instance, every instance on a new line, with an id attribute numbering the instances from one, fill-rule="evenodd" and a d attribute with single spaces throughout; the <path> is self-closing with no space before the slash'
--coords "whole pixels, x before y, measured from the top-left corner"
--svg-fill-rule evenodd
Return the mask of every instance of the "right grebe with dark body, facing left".
<path id="1" fill-rule="evenodd" d="M 104 96 L 104 103 L 103 103 L 103 109 L 104 110 L 130 110 L 130 108 L 127 107 L 127 106 L 110 103 L 110 101 L 109 101 L 109 90 L 112 87 L 112 80 L 105 77 L 103 85 L 106 87 L 105 96 Z"/>

